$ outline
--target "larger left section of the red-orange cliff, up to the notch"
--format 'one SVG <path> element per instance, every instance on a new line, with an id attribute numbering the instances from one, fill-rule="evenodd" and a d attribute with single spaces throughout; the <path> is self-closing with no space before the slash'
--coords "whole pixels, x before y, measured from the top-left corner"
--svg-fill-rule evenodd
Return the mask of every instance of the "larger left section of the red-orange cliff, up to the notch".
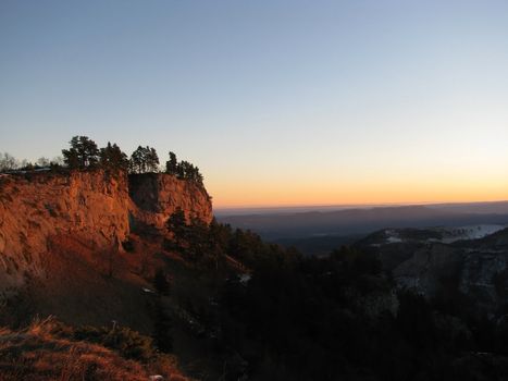
<path id="1" fill-rule="evenodd" d="M 1 175 L 0 292 L 9 296 L 9 290 L 41 275 L 52 237 L 117 248 L 129 233 L 127 208 L 126 179 L 100 171 Z"/>

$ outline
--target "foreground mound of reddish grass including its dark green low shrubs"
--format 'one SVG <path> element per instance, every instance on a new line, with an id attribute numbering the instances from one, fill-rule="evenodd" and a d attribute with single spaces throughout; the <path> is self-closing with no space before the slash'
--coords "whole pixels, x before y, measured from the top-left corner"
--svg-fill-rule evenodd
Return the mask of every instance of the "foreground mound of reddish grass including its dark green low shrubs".
<path id="1" fill-rule="evenodd" d="M 53 318 L 0 329 L 0 380 L 189 380 L 151 339 L 122 328 L 73 329 Z"/>

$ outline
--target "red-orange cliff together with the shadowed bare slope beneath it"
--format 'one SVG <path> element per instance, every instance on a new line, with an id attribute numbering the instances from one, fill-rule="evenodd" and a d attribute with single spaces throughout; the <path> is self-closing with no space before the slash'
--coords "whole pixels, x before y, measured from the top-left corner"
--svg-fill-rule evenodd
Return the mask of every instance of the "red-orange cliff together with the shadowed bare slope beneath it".
<path id="1" fill-rule="evenodd" d="M 206 189 L 169 174 L 1 175 L 0 321 L 57 314 L 73 323 L 115 319 L 150 332 L 152 302 L 143 288 L 150 286 L 163 239 L 158 231 L 165 232 L 177 208 L 212 219 Z M 133 235 L 146 233 L 141 225 L 157 238 Z"/>

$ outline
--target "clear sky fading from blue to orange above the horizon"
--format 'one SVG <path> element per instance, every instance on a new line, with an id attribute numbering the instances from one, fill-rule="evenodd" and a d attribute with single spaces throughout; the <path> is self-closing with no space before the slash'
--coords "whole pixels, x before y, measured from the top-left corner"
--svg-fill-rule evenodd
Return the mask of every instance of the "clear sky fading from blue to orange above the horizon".
<path id="1" fill-rule="evenodd" d="M 508 199 L 508 2 L 0 0 L 0 152 L 74 135 L 215 208 Z"/>

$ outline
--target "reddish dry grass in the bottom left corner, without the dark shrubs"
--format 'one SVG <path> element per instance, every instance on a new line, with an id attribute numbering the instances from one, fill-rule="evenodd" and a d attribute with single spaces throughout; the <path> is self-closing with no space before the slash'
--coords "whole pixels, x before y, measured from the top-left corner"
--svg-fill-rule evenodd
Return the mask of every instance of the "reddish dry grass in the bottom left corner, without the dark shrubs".
<path id="1" fill-rule="evenodd" d="M 147 381 L 153 374 L 188 380 L 170 356 L 140 364 L 101 345 L 67 339 L 70 332 L 52 318 L 35 320 L 21 331 L 0 329 L 0 380 Z"/>

